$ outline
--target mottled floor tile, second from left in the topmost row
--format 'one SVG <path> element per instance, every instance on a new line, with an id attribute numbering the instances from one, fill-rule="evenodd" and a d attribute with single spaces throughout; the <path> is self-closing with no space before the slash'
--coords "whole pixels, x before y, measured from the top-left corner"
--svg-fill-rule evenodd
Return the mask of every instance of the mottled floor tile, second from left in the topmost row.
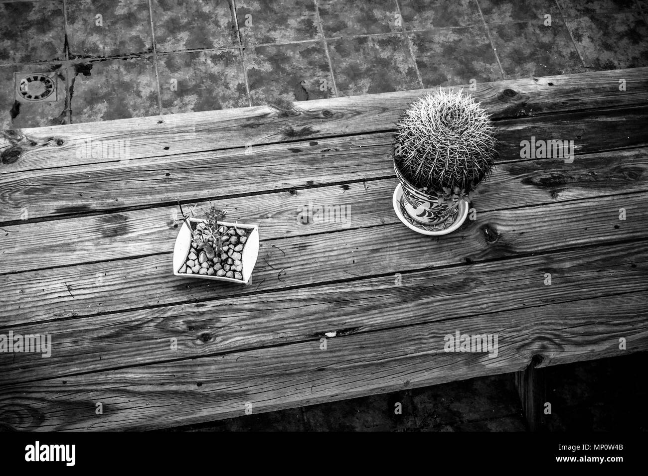
<path id="1" fill-rule="evenodd" d="M 126 56 L 153 51 L 147 0 L 67 0 L 72 57 Z"/>

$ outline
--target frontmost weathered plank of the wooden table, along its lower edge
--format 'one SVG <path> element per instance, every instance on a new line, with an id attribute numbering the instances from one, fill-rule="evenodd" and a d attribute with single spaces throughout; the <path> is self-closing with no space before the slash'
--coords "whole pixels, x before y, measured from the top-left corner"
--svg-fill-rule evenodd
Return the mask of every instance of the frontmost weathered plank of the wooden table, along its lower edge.
<path id="1" fill-rule="evenodd" d="M 601 312 L 605 310 L 605 312 Z M 648 349 L 642 292 L 474 315 L 0 388 L 0 425 L 152 429 L 262 413 Z M 498 354 L 445 352 L 445 336 L 497 334 Z M 632 346 L 619 350 L 619 338 Z M 103 413 L 95 413 L 97 404 Z"/>

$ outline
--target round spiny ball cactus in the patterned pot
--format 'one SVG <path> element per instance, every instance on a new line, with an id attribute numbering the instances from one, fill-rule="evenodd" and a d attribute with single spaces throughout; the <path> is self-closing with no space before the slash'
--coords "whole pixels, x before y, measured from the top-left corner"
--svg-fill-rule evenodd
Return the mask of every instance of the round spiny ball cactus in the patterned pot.
<path id="1" fill-rule="evenodd" d="M 464 196 L 492 170 L 494 133 L 489 115 L 471 96 L 439 89 L 411 104 L 400 118 L 396 164 L 428 194 Z"/>

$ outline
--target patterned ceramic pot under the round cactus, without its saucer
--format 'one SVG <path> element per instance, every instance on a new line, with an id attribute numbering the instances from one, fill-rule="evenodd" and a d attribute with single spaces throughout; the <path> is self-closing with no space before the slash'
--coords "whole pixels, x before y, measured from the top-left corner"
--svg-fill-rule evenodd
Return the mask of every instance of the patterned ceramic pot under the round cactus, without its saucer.
<path id="1" fill-rule="evenodd" d="M 428 195 L 425 192 L 421 192 L 417 187 L 414 187 L 400 173 L 396 161 L 394 161 L 394 170 L 403 190 L 403 208 L 412 220 L 424 225 L 436 225 L 443 223 L 443 221 L 457 214 L 457 210 L 459 210 L 461 205 L 459 200 L 453 201 L 452 203 L 443 202 L 439 204 L 437 196 Z"/>

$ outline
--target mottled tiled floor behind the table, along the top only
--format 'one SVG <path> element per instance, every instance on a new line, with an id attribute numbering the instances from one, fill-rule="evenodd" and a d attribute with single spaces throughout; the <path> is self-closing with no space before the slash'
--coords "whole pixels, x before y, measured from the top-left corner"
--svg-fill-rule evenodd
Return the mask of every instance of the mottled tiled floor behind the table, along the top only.
<path id="1" fill-rule="evenodd" d="M 645 0 L 0 0 L 0 128 L 648 65 Z M 57 71 L 56 102 L 14 72 Z"/>

